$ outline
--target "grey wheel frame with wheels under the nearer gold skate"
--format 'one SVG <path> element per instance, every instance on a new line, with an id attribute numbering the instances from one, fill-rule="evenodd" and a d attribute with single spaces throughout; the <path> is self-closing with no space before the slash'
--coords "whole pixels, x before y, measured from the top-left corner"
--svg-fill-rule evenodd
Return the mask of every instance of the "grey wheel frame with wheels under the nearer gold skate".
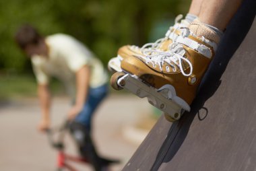
<path id="1" fill-rule="evenodd" d="M 159 90 L 143 83 L 136 75 L 127 73 L 115 73 L 111 77 L 111 86 L 120 90 L 124 88 L 139 98 L 148 98 L 148 102 L 164 112 L 164 116 L 170 122 L 181 118 L 185 110 L 190 110 L 189 105 L 176 96 L 174 88 L 170 85 L 163 86 Z"/>

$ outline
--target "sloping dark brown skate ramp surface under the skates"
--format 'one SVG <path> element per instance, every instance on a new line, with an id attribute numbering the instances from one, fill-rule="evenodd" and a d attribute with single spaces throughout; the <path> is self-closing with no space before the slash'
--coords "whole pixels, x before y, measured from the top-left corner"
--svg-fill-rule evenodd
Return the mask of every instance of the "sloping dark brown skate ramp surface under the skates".
<path id="1" fill-rule="evenodd" d="M 123 170 L 256 170 L 255 3 L 227 27 L 191 112 L 161 116 Z"/>

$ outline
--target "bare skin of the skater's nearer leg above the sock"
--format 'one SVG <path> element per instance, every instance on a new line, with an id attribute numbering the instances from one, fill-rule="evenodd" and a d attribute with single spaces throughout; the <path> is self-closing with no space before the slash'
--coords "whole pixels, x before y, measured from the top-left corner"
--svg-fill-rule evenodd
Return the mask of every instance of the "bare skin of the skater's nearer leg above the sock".
<path id="1" fill-rule="evenodd" d="M 204 0 L 199 20 L 220 30 L 225 30 L 243 0 Z"/>

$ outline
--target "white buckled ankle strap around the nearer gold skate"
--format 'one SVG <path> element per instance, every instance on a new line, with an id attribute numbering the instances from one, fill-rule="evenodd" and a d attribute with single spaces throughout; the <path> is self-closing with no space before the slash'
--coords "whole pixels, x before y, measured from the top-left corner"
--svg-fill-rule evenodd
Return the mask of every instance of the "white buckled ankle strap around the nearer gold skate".
<path id="1" fill-rule="evenodd" d="M 178 35 L 174 32 L 170 33 L 169 38 L 172 39 L 173 42 L 178 42 L 178 43 L 184 44 L 185 46 L 188 46 L 189 48 L 192 48 L 193 50 L 197 51 L 198 53 L 200 53 L 201 55 L 209 59 L 212 58 L 212 55 L 213 55 L 212 49 L 210 47 L 205 46 L 204 44 L 200 44 L 199 42 L 192 40 L 191 38 Z M 205 42 L 205 43 L 209 44 L 210 46 L 214 45 L 214 44 L 210 44 L 209 42 Z M 212 46 L 212 48 L 214 48 L 214 46 Z"/>

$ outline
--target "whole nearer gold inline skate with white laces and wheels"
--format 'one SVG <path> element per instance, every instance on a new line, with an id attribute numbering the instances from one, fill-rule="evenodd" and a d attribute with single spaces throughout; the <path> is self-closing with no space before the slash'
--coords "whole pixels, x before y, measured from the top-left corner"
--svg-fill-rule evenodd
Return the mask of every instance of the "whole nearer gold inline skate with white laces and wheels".
<path id="1" fill-rule="evenodd" d="M 113 88 L 125 88 L 140 98 L 147 97 L 150 104 L 164 112 L 168 121 L 178 120 L 184 110 L 190 110 L 219 41 L 212 36 L 216 34 L 210 28 L 197 27 L 197 23 L 192 23 L 189 28 L 175 30 L 167 50 L 148 49 L 144 52 L 146 56 L 123 59 L 122 72 L 111 77 Z M 201 33 L 205 31 L 204 37 Z"/>

